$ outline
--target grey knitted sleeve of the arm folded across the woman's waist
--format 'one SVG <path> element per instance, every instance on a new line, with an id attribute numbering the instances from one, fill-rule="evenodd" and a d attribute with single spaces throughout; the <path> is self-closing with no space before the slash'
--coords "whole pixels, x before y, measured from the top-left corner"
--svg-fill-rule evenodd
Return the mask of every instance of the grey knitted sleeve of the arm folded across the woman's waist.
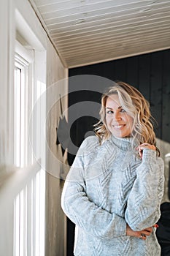
<path id="1" fill-rule="evenodd" d="M 69 219 L 92 236 L 111 239 L 125 236 L 126 222 L 122 217 L 97 206 L 86 195 L 84 161 L 87 141 L 82 143 L 69 170 L 61 196 L 61 207 Z"/>

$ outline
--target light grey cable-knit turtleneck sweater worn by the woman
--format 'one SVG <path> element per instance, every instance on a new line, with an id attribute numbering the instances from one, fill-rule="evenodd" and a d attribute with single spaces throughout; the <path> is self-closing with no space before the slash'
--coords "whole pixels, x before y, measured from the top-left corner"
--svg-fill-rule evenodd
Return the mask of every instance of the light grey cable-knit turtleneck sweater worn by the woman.
<path id="1" fill-rule="evenodd" d="M 80 146 L 61 197 L 76 224 L 74 255 L 161 255 L 155 227 L 146 241 L 126 236 L 126 223 L 143 230 L 158 221 L 163 196 L 163 160 L 147 148 L 139 159 L 133 141 L 90 136 Z"/>

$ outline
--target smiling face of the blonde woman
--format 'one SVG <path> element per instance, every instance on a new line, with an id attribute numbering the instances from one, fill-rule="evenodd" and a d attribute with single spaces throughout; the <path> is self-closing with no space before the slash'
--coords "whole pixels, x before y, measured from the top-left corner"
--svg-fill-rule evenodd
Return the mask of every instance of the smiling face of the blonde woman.
<path id="1" fill-rule="evenodd" d="M 109 132 L 118 138 L 130 137 L 133 121 L 134 119 L 121 107 L 118 95 L 110 95 L 106 102 L 106 122 Z"/>

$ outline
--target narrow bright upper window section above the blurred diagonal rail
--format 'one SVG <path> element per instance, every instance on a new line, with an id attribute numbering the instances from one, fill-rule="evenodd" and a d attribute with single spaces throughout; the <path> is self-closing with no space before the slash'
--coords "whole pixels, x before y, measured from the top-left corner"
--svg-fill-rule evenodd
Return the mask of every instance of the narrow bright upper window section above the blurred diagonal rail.
<path id="1" fill-rule="evenodd" d="M 15 165 L 28 164 L 28 66 L 15 53 Z"/>

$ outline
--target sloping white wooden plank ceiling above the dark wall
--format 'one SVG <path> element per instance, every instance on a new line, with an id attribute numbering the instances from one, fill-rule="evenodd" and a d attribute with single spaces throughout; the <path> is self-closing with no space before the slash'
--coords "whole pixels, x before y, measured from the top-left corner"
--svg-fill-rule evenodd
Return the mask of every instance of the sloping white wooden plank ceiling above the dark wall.
<path id="1" fill-rule="evenodd" d="M 29 0 L 65 67 L 170 48 L 170 0 Z"/>

